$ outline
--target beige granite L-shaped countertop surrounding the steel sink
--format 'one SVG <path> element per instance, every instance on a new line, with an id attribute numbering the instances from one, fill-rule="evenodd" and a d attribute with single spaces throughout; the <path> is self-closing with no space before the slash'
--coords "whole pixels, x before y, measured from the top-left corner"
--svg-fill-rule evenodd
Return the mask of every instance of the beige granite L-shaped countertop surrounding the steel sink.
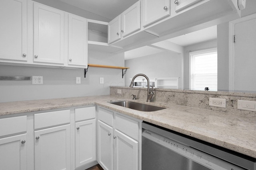
<path id="1" fill-rule="evenodd" d="M 96 104 L 256 158 L 256 117 L 159 102 L 150 104 L 167 108 L 145 112 L 108 103 L 120 100 L 125 99 L 106 95 L 6 102 L 0 103 L 0 116 Z"/>

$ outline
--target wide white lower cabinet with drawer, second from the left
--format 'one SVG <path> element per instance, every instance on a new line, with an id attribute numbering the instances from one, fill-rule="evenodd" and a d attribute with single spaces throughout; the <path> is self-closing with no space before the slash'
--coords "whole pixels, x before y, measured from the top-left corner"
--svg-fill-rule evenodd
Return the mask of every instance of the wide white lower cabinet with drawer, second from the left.
<path id="1" fill-rule="evenodd" d="M 70 162 L 70 110 L 35 114 L 35 170 L 70 170 Z"/>

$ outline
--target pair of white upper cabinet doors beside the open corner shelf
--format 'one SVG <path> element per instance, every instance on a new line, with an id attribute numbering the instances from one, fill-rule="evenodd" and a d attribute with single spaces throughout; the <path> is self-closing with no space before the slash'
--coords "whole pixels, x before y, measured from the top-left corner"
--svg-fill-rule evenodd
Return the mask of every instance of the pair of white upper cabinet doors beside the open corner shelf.
<path id="1" fill-rule="evenodd" d="M 140 29 L 140 1 L 108 23 L 108 43 L 113 43 Z"/>

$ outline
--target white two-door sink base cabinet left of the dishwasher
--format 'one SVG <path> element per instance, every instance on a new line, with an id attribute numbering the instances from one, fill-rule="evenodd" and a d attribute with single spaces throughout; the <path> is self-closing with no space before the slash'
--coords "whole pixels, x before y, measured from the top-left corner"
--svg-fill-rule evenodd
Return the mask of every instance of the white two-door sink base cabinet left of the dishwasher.
<path id="1" fill-rule="evenodd" d="M 104 170 L 141 170 L 141 120 L 98 110 L 98 163 Z"/>

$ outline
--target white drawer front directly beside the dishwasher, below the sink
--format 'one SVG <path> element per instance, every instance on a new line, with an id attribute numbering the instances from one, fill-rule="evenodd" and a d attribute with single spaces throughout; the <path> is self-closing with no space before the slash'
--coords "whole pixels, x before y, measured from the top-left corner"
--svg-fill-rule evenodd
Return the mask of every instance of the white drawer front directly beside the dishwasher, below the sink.
<path id="1" fill-rule="evenodd" d="M 140 123 L 120 114 L 115 114 L 114 125 L 118 131 L 128 135 L 129 137 L 139 141 L 139 127 Z"/>

